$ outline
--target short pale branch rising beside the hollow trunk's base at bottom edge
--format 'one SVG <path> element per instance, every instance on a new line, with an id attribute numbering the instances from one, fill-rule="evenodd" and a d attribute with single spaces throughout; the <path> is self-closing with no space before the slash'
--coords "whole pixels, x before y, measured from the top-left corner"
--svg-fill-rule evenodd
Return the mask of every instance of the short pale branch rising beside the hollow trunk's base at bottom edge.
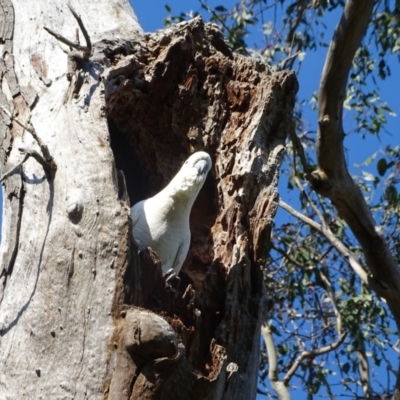
<path id="1" fill-rule="evenodd" d="M 274 339 L 272 337 L 271 328 L 266 322 L 261 326 L 261 335 L 264 338 L 265 347 L 268 354 L 268 379 L 272 388 L 278 395 L 279 400 L 291 400 L 290 393 L 286 385 L 278 379 L 278 361 Z"/>

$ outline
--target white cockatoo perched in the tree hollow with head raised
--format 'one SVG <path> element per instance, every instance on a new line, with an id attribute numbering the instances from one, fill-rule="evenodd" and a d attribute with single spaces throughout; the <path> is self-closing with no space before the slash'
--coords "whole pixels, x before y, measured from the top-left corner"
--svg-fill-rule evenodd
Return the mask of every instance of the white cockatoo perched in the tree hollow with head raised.
<path id="1" fill-rule="evenodd" d="M 133 237 L 151 247 L 163 274 L 178 275 L 190 245 L 189 215 L 212 162 L 204 151 L 193 153 L 161 192 L 131 208 Z M 169 279 L 169 278 L 168 278 Z"/>

